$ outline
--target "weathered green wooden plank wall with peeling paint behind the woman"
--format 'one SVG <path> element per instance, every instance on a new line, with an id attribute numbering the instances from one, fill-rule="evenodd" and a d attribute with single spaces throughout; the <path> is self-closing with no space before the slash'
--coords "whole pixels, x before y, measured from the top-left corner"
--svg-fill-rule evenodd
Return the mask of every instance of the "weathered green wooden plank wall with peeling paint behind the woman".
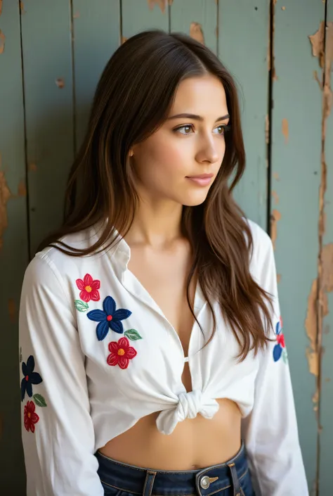
<path id="1" fill-rule="evenodd" d="M 25 494 L 22 276 L 60 222 L 105 63 L 150 28 L 200 39 L 240 89 L 247 171 L 235 196 L 275 244 L 308 484 L 331 496 L 333 0 L 0 0 L 0 490 Z"/>

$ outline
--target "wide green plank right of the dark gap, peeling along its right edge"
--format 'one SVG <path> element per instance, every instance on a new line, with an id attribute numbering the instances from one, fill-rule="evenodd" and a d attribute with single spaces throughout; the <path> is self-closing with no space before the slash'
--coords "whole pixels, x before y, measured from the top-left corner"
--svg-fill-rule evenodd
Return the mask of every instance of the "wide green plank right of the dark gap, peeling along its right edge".
<path id="1" fill-rule="evenodd" d="M 309 488 L 315 494 L 318 438 L 317 277 L 321 148 L 318 61 L 309 34 L 324 4 L 275 4 L 272 224 L 281 312 Z"/>

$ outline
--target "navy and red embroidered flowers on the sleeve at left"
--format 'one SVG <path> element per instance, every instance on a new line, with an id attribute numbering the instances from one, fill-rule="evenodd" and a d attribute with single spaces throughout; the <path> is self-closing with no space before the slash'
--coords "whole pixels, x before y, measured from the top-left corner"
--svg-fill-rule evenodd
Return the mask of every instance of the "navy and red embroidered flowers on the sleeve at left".
<path id="1" fill-rule="evenodd" d="M 20 348 L 21 353 L 22 348 Z M 23 379 L 21 381 L 21 401 L 25 399 L 25 392 L 31 398 L 34 398 L 34 401 L 27 401 L 27 405 L 25 405 L 24 419 L 25 419 L 25 428 L 27 431 L 31 431 L 34 433 L 34 424 L 37 424 L 39 421 L 39 416 L 35 412 L 36 405 L 37 407 L 47 407 L 46 401 L 43 396 L 39 393 L 35 393 L 32 396 L 32 384 L 40 384 L 43 382 L 40 374 L 38 372 L 34 372 L 34 357 L 30 355 L 27 359 L 27 363 L 22 362 L 22 374 Z"/>

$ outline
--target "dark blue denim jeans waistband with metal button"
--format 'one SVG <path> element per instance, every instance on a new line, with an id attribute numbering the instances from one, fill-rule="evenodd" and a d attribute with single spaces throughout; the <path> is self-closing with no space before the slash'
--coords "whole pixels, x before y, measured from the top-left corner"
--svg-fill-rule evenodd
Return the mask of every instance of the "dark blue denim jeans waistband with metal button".
<path id="1" fill-rule="evenodd" d="M 144 469 L 96 452 L 105 496 L 254 496 L 244 444 L 228 462 L 189 471 Z"/>

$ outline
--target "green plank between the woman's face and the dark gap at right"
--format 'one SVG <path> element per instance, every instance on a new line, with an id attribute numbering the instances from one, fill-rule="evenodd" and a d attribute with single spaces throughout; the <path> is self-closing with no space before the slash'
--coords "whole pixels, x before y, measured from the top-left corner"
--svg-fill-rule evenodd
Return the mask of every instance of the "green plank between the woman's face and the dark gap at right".
<path id="1" fill-rule="evenodd" d="M 240 87 L 247 168 L 235 199 L 267 227 L 268 0 L 218 1 L 218 56 Z"/>

